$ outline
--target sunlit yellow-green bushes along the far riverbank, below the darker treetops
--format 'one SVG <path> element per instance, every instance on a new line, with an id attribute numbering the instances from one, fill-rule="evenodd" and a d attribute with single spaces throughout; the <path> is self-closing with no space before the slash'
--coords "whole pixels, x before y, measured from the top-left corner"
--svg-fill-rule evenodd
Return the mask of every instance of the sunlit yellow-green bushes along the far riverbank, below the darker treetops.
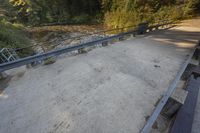
<path id="1" fill-rule="evenodd" d="M 141 22 L 154 24 L 163 20 L 176 21 L 193 16 L 193 6 L 194 2 L 188 2 L 182 5 L 162 5 L 158 9 L 153 9 L 148 4 L 139 7 L 135 6 L 131 9 L 117 7 L 105 13 L 104 22 L 110 28 L 118 28 L 137 25 Z"/>

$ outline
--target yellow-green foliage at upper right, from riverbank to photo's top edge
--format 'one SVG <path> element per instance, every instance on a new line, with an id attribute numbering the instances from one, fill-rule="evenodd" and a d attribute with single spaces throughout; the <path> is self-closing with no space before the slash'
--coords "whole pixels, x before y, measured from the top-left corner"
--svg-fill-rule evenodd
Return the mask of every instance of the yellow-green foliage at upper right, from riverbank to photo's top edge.
<path id="1" fill-rule="evenodd" d="M 102 0 L 105 24 L 124 27 L 148 21 L 180 20 L 200 9 L 200 0 Z"/>

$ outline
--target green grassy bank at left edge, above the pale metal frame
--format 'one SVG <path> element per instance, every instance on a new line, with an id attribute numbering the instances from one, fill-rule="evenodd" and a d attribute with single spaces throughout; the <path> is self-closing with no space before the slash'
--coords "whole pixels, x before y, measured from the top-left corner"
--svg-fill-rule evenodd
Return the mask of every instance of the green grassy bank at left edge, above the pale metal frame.
<path id="1" fill-rule="evenodd" d="M 0 27 L 0 48 L 21 48 L 31 45 L 22 25 L 3 20 L 0 21 Z M 33 51 L 26 49 L 19 51 L 18 54 L 24 57 L 33 54 Z"/>

